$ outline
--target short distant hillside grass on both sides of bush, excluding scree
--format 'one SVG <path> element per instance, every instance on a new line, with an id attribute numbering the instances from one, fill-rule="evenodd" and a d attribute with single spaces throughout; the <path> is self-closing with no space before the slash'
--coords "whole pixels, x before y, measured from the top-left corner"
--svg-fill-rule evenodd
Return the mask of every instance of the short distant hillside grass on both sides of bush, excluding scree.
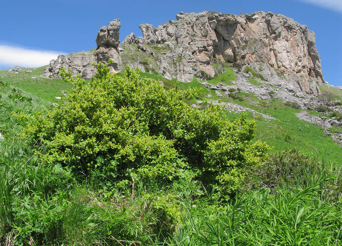
<path id="1" fill-rule="evenodd" d="M 41 106 L 47 106 L 51 102 L 58 102 L 60 100 L 55 99 L 55 97 L 63 96 L 61 91 L 67 91 L 71 88 L 71 85 L 63 80 L 57 79 L 47 79 L 43 78 L 41 75 L 44 71 L 43 67 L 39 68 L 28 68 L 32 72 L 25 72 L 24 68 L 22 72 L 19 73 L 8 73 L 7 70 L 0 70 L 0 79 L 2 81 L 7 81 L 10 84 L 10 89 L 15 88 L 20 90 L 27 97 L 34 98 L 35 108 Z M 208 80 L 211 84 L 218 84 L 224 82 L 229 85 L 234 81 L 235 74 L 230 67 L 225 67 L 227 74 L 218 74 L 215 78 Z M 190 83 L 179 82 L 175 79 L 168 80 L 157 74 L 140 73 L 141 77 L 146 77 L 154 80 L 160 80 L 163 82 L 164 87 L 168 90 L 169 88 L 177 87 L 181 90 L 186 88 L 198 88 L 202 90 L 203 98 L 189 100 L 188 104 L 196 104 L 197 100 L 220 100 L 227 102 L 234 102 L 235 104 L 251 108 L 257 112 L 271 115 L 277 120 L 267 120 L 265 121 L 261 116 L 257 121 L 257 132 L 256 138 L 266 141 L 269 145 L 274 147 L 274 151 L 286 150 L 288 148 L 298 148 L 305 153 L 316 155 L 316 150 L 319 155 L 326 153 L 326 157 L 330 160 L 337 161 L 337 163 L 342 163 L 341 147 L 337 142 L 333 141 L 330 136 L 324 134 L 323 129 L 313 125 L 312 123 L 300 120 L 295 116 L 294 113 L 298 113 L 300 109 L 294 109 L 292 107 L 285 106 L 280 99 L 269 99 L 266 101 L 260 101 L 257 97 L 251 94 L 239 93 L 242 98 L 246 96 L 248 99 L 238 100 L 227 98 L 225 96 L 219 97 L 216 95 L 215 91 L 209 90 L 198 82 L 196 78 Z M 123 73 L 119 73 L 119 76 L 123 76 Z M 32 79 L 32 77 L 37 77 Z M 258 81 L 250 78 L 250 83 L 255 84 Z M 258 84 L 260 85 L 260 84 Z M 321 85 L 320 89 L 322 92 L 328 92 L 333 95 L 334 99 L 341 99 L 342 93 L 338 90 L 333 90 L 332 87 Z M 4 95 L 5 96 L 5 95 Z M 317 113 L 309 111 L 309 113 Z M 239 114 L 227 112 L 227 118 L 234 120 Z M 252 118 L 253 115 L 250 114 Z M 341 127 L 340 127 L 341 128 Z M 336 131 L 341 131 L 341 129 L 336 129 Z"/>

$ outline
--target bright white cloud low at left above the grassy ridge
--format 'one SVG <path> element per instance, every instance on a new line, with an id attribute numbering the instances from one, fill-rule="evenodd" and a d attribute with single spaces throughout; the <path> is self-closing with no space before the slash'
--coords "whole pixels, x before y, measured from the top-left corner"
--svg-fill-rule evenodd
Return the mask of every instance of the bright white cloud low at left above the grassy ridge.
<path id="1" fill-rule="evenodd" d="M 0 66 L 40 67 L 48 65 L 51 59 L 56 59 L 63 52 L 27 49 L 0 44 Z"/>

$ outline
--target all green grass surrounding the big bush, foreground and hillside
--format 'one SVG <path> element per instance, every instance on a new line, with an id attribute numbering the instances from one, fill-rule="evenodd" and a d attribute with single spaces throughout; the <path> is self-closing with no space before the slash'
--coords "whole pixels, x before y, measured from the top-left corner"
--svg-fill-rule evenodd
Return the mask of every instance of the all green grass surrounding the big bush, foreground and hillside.
<path id="1" fill-rule="evenodd" d="M 42 72 L 38 69 L 36 74 Z M 62 90 L 64 84 L 58 80 L 46 84 L 43 78 L 37 83 L 26 74 L 16 75 L 0 86 L 0 131 L 5 137 L 0 140 L 0 245 L 283 246 L 341 242 L 341 148 L 321 128 L 299 120 L 294 115 L 299 109 L 286 107 L 278 99 L 267 104 L 244 93 L 239 95 L 248 95 L 249 100 L 227 99 L 281 120 L 257 120 L 256 137 L 276 150 L 297 147 L 316 154 L 315 144 L 319 154 L 308 159 L 274 151 L 266 165 L 246 167 L 248 174 L 239 192 L 220 202 L 213 199 L 215 190 L 205 190 L 187 170 L 173 182 L 129 178 L 118 182 L 101 170 L 92 170 L 80 179 L 69 167 L 43 162 L 34 149 L 43 150 L 44 146 L 18 137 L 21 128 L 12 112 L 34 113 L 49 106 L 54 95 L 35 93 Z M 208 99 L 216 96 L 196 78 L 182 83 L 156 74 L 141 76 L 163 81 L 166 89 L 203 88 L 205 95 L 213 95 Z M 32 101 L 11 99 L 13 88 Z M 226 117 L 234 120 L 239 114 L 226 112 Z M 248 118 L 252 117 L 250 113 Z"/>

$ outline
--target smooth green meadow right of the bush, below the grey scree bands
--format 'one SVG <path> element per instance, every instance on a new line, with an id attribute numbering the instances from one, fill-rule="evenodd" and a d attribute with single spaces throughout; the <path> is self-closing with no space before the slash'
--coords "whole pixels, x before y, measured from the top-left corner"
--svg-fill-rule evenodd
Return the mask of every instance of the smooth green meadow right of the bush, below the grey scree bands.
<path id="1" fill-rule="evenodd" d="M 234 102 L 278 119 L 265 121 L 263 117 L 260 117 L 257 121 L 256 138 L 274 146 L 274 151 L 298 148 L 303 152 L 316 155 L 317 149 L 319 155 L 326 153 L 328 159 L 342 163 L 341 147 L 338 143 L 324 134 L 321 127 L 300 120 L 294 113 L 300 112 L 301 109 L 287 107 L 280 99 L 270 99 L 267 104 L 253 95 L 248 100 L 234 100 Z M 250 105 L 251 102 L 253 105 Z M 291 136 L 289 141 L 285 141 L 286 134 Z"/>

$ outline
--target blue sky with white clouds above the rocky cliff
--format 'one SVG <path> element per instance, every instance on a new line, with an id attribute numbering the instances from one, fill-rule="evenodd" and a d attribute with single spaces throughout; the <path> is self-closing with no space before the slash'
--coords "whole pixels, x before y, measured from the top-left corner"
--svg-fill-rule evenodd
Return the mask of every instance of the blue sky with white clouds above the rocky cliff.
<path id="1" fill-rule="evenodd" d="M 282 14 L 316 33 L 325 80 L 342 86 L 342 1 L 3 1 L 0 15 L 0 68 L 42 66 L 57 54 L 91 50 L 101 26 L 120 18 L 120 40 L 139 25 L 155 27 L 183 12 Z"/>

